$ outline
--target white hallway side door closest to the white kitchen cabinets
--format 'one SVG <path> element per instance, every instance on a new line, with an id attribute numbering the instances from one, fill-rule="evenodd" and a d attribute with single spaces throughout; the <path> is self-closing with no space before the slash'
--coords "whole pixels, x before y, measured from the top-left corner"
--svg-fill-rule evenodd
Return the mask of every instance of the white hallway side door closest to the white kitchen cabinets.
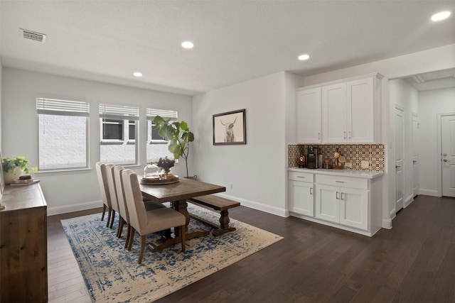
<path id="1" fill-rule="evenodd" d="M 403 150 L 404 150 L 404 112 L 395 107 L 395 212 L 403 208 Z"/>

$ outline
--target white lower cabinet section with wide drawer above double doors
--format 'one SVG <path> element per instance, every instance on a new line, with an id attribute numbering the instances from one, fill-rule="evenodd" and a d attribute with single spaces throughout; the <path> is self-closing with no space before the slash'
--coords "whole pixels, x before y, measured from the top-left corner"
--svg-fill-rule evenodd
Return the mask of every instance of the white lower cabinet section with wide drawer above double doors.
<path id="1" fill-rule="evenodd" d="M 368 180 L 316 175 L 316 218 L 368 230 Z"/>

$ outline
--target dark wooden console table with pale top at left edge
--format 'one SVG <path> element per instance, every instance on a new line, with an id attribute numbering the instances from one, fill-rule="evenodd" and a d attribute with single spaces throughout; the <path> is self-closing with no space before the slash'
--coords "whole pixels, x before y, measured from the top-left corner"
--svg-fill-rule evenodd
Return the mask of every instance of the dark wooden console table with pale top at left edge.
<path id="1" fill-rule="evenodd" d="M 7 185 L 0 203 L 0 302 L 47 302 L 47 204 L 40 184 Z"/>

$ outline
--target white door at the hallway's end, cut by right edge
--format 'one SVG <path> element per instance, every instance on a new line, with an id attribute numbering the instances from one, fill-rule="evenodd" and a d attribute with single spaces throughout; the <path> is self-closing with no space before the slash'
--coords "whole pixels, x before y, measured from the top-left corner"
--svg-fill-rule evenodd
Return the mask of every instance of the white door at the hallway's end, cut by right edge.
<path id="1" fill-rule="evenodd" d="M 441 117 L 442 195 L 455 197 L 455 116 Z"/>

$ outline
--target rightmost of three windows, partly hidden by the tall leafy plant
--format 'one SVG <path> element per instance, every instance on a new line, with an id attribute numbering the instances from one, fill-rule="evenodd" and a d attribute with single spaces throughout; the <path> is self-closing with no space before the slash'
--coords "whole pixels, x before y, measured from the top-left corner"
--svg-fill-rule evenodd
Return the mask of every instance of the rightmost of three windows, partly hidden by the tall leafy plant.
<path id="1" fill-rule="evenodd" d="M 146 109 L 147 116 L 147 162 L 155 162 L 161 157 L 173 159 L 173 154 L 168 150 L 168 141 L 159 136 L 159 129 L 153 128 L 152 123 L 156 116 L 164 119 L 177 121 L 177 111 L 165 111 L 161 109 Z"/>

